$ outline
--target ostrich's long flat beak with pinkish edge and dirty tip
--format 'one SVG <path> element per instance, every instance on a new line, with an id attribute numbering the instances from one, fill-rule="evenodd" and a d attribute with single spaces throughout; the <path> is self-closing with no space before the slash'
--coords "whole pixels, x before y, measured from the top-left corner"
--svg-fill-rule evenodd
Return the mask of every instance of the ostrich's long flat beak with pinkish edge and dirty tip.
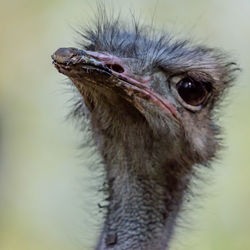
<path id="1" fill-rule="evenodd" d="M 97 55 L 101 54 L 76 48 L 60 48 L 51 57 L 57 70 L 68 76 L 80 93 L 83 85 L 113 89 L 141 113 L 146 112 L 140 102 L 140 99 L 144 99 L 161 108 L 167 115 L 177 118 L 176 108 L 166 98 L 155 93 L 145 83 L 114 72 Z M 102 54 L 104 56 L 108 57 Z"/>

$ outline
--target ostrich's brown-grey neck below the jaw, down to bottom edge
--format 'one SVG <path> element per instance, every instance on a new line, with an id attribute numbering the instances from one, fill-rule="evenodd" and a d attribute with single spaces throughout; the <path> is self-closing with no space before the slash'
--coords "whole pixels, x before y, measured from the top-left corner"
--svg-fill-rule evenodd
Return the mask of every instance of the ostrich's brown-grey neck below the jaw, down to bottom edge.
<path id="1" fill-rule="evenodd" d="M 109 205 L 96 249 L 168 249 L 187 168 L 168 160 L 171 144 L 156 138 L 145 121 L 121 116 L 123 123 L 116 119 L 106 126 L 97 117 L 92 115 L 92 126 L 105 162 Z"/>

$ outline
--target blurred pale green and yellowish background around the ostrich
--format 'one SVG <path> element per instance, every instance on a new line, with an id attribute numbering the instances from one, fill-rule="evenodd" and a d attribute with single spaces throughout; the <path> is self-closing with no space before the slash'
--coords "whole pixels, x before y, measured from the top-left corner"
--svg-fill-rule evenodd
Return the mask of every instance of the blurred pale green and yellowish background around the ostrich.
<path id="1" fill-rule="evenodd" d="M 107 2 L 112 6 L 112 2 Z M 221 47 L 243 69 L 222 110 L 225 150 L 203 197 L 184 215 L 175 250 L 250 249 L 250 1 L 113 1 L 183 37 Z M 115 8 L 116 8 L 115 7 Z M 94 1 L 9 0 L 0 9 L 0 249 L 92 249 L 102 216 L 93 149 L 66 122 L 72 95 L 51 65 L 74 46 L 72 27 L 93 18 Z M 98 169 L 98 166 L 97 166 Z"/>

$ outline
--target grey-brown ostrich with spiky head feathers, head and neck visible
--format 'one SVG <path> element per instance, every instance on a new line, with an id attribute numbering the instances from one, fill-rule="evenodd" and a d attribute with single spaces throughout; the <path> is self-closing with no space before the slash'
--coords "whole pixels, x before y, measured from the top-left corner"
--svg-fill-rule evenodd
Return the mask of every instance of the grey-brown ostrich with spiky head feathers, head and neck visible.
<path id="1" fill-rule="evenodd" d="M 220 148 L 218 104 L 235 79 L 224 52 L 99 13 L 80 48 L 60 48 L 56 69 L 90 120 L 108 205 L 97 250 L 170 249 L 198 167 Z"/>

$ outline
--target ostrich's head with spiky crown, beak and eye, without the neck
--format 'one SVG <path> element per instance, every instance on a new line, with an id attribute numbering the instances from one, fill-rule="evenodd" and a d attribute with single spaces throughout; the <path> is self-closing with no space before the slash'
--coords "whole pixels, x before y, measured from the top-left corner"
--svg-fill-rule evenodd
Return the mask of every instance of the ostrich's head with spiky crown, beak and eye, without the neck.
<path id="1" fill-rule="evenodd" d="M 223 53 L 137 24 L 131 31 L 103 22 L 82 36 L 83 49 L 60 48 L 53 63 L 72 80 L 102 130 L 123 128 L 119 133 L 125 134 L 127 127 L 140 130 L 146 123 L 157 140 L 180 154 L 185 148 L 196 162 L 214 155 L 219 130 L 213 111 L 236 69 Z"/>

